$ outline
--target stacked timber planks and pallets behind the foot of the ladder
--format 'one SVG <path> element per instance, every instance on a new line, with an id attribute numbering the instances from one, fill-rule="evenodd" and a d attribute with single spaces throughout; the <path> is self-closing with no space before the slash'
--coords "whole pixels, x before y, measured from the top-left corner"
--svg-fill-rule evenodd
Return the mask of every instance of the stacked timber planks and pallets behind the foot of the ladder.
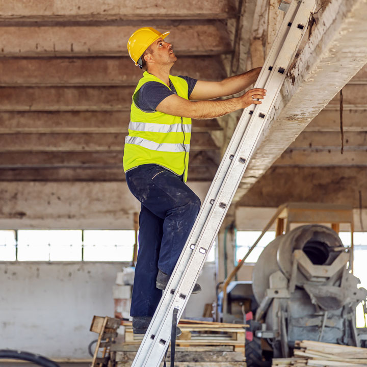
<path id="1" fill-rule="evenodd" d="M 127 367 L 134 360 L 143 335 L 133 334 L 131 322 L 122 321 L 122 325 L 124 341 L 117 342 L 111 350 L 116 352 L 117 366 Z M 181 320 L 175 367 L 245 367 L 246 326 Z M 170 361 L 169 352 L 167 360 Z"/>

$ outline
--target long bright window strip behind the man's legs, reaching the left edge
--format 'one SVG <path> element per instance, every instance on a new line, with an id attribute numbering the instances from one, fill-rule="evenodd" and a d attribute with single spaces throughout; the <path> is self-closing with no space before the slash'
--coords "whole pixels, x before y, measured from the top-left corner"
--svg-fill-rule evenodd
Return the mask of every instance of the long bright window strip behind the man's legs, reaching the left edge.
<path id="1" fill-rule="evenodd" d="M 134 230 L 0 230 L 0 261 L 132 261 Z M 213 244 L 206 261 L 215 261 Z"/>

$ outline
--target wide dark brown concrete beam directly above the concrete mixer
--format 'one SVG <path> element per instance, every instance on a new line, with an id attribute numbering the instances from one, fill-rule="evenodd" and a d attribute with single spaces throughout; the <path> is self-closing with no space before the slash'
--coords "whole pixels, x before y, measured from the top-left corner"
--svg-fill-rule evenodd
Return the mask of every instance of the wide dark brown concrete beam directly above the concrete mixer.
<path id="1" fill-rule="evenodd" d="M 367 167 L 272 167 L 240 200 L 240 206 L 319 202 L 359 207 L 367 195 Z M 364 207 L 366 202 L 363 201 Z"/>

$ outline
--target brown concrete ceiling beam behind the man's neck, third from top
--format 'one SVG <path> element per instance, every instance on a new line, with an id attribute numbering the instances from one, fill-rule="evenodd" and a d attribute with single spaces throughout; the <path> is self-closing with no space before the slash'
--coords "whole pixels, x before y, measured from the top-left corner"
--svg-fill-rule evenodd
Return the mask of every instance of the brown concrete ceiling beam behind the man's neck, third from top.
<path id="1" fill-rule="evenodd" d="M 181 57 L 173 75 L 222 80 L 220 57 Z M 136 86 L 143 71 L 130 58 L 0 58 L 0 86 Z"/>

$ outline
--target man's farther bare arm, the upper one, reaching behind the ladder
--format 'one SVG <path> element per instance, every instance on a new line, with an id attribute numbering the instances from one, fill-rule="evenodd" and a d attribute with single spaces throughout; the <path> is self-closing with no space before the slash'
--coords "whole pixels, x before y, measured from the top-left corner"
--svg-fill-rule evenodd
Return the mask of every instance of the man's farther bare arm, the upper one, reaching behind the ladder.
<path id="1" fill-rule="evenodd" d="M 197 81 L 190 100 L 213 99 L 239 93 L 256 82 L 260 71 L 261 67 L 258 67 L 220 82 Z"/>

